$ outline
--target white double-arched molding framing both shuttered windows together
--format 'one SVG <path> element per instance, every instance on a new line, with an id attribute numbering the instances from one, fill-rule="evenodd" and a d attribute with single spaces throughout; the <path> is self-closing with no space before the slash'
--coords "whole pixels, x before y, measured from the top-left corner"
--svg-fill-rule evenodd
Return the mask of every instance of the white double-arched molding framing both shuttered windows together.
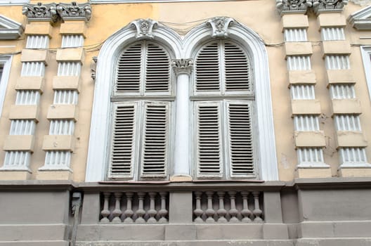
<path id="1" fill-rule="evenodd" d="M 255 85 L 259 150 L 261 153 L 269 153 L 259 156 L 259 162 L 261 163 L 259 174 L 260 179 L 275 181 L 278 180 L 278 162 L 275 152 L 271 86 L 266 48 L 261 41 L 262 39 L 255 32 L 238 22 L 234 22 L 228 32 L 228 37 L 245 46 L 252 58 L 254 79 L 259 82 Z M 155 41 L 167 45 L 173 51 L 175 58 L 181 59 L 192 57 L 195 48 L 211 38 L 211 28 L 203 23 L 188 32 L 182 39 L 169 27 L 159 24 L 152 30 L 152 34 Z M 108 121 L 110 119 L 110 93 L 113 83 L 106 82 L 114 81 L 115 66 L 107 66 L 107 64 L 114 64 L 122 48 L 134 41 L 136 41 L 136 30 L 132 29 L 131 25 L 127 25 L 112 34 L 100 50 L 96 68 L 97 76 L 91 117 L 86 182 L 104 181 L 108 167 L 108 139 L 111 129 Z M 176 100 L 178 100 L 178 93 Z M 186 130 L 189 131 L 189 129 Z M 189 175 L 191 174 L 190 167 L 187 168 Z"/>

